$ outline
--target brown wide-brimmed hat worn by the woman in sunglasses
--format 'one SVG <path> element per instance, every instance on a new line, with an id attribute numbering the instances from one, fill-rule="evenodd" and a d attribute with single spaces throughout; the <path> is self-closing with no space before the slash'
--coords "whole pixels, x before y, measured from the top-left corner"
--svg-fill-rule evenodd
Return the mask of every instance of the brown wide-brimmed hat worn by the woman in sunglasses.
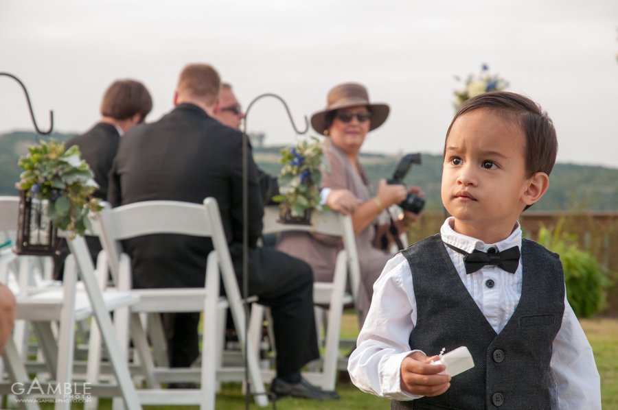
<path id="1" fill-rule="evenodd" d="M 367 106 L 371 111 L 371 125 L 369 131 L 375 130 L 389 117 L 389 106 L 387 104 L 371 104 L 367 88 L 361 84 L 341 84 L 332 88 L 328 93 L 327 106 L 325 110 L 315 112 L 311 116 L 311 125 L 314 130 L 324 134 L 327 129 L 326 114 L 339 108 L 349 108 L 356 106 Z"/>

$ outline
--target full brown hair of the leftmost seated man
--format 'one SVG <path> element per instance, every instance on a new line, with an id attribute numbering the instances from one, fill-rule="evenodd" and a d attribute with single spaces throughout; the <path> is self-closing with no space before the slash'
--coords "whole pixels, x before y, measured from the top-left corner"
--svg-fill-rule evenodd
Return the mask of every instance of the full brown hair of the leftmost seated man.
<path id="1" fill-rule="evenodd" d="M 152 110 L 152 98 L 141 82 L 117 80 L 107 88 L 101 103 L 101 114 L 117 120 L 129 119 L 135 114 L 143 121 Z"/>

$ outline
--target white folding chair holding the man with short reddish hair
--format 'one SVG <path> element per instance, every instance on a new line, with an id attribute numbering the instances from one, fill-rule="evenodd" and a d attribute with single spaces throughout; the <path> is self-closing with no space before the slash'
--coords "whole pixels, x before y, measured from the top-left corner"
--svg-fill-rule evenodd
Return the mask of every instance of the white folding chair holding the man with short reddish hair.
<path id="1" fill-rule="evenodd" d="M 130 328 L 133 344 L 146 375 L 148 389 L 140 389 L 138 395 L 144 405 L 200 405 L 202 410 L 214 409 L 216 382 L 242 380 L 244 368 L 218 368 L 218 327 L 220 312 L 229 307 L 244 344 L 246 317 L 236 282 L 227 239 L 214 198 L 206 198 L 204 204 L 175 201 L 148 201 L 119 206 L 111 209 L 104 204 L 98 221 L 100 239 L 108 266 L 117 287 L 129 289 L 131 283 L 130 258 L 121 252 L 120 241 L 148 234 L 185 234 L 210 237 L 214 250 L 207 258 L 204 288 L 133 289 L 140 296 L 139 304 L 130 308 Z M 222 278 L 226 298 L 219 296 L 219 280 Z M 149 351 L 146 333 L 141 324 L 140 313 L 205 312 L 203 322 L 201 369 L 169 369 L 155 367 Z M 116 319 L 116 317 L 115 317 Z M 219 335 L 222 336 L 222 335 Z M 268 398 L 260 376 L 255 352 L 249 349 L 247 360 L 249 374 L 255 390 L 255 401 L 264 407 Z M 200 389 L 161 389 L 160 383 L 194 381 Z"/>

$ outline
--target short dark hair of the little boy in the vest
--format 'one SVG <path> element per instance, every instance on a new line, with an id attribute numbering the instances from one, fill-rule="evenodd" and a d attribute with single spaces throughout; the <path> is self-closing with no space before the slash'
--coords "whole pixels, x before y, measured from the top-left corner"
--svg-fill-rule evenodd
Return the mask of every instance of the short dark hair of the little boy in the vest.
<path id="1" fill-rule="evenodd" d="M 553 128 L 553 121 L 547 112 L 523 95 L 495 91 L 466 100 L 453 117 L 446 132 L 446 138 L 448 139 L 450 129 L 459 117 L 481 109 L 492 110 L 503 115 L 506 119 L 514 121 L 522 130 L 525 136 L 524 159 L 527 178 L 537 172 L 545 172 L 549 176 L 556 163 L 556 154 L 558 154 L 556 128 Z M 446 141 L 444 149 L 446 150 Z"/>

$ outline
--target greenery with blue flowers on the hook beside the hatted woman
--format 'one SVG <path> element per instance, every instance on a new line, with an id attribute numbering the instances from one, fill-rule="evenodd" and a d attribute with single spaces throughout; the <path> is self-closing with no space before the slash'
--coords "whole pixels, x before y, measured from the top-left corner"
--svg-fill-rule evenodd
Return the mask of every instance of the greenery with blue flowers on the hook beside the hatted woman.
<path id="1" fill-rule="evenodd" d="M 320 169 L 329 171 L 322 143 L 317 138 L 312 140 L 300 141 L 296 147 L 281 149 L 279 162 L 284 165 L 278 177 L 281 195 L 273 200 L 282 202 L 282 210 L 289 210 L 293 217 L 301 217 L 306 210 L 319 205 L 322 184 Z"/>

